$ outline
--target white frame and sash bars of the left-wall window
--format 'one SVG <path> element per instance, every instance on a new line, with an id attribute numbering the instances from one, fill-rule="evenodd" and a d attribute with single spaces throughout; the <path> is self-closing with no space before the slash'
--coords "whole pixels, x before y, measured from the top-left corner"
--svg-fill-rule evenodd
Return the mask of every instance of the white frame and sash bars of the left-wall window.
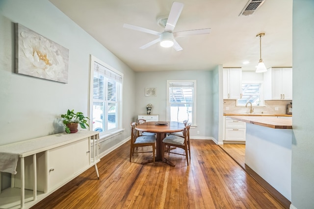
<path id="1" fill-rule="evenodd" d="M 117 110 L 116 110 L 116 127 L 112 128 L 112 129 L 107 129 L 108 127 L 106 127 L 106 130 L 103 130 L 102 132 L 100 132 L 99 136 L 100 138 L 105 138 L 108 135 L 114 134 L 119 130 L 122 130 L 122 93 L 123 93 L 123 73 L 121 73 L 120 71 L 112 68 L 111 66 L 109 66 L 108 64 L 106 64 L 105 62 L 103 62 L 102 60 L 94 57 L 93 55 L 91 55 L 91 62 L 90 62 L 90 91 L 89 91 L 89 118 L 90 118 L 90 125 L 89 125 L 89 130 L 93 131 L 93 104 L 94 101 L 99 101 L 99 99 L 94 99 L 94 73 L 95 73 L 95 62 L 102 65 L 103 67 L 105 67 L 106 71 L 110 71 L 112 72 L 112 75 L 116 75 L 118 77 L 120 77 L 120 81 L 118 82 L 116 81 L 116 103 L 117 104 Z M 104 81 L 108 81 L 108 80 L 114 80 L 111 78 L 108 78 L 108 76 L 105 76 L 105 73 L 102 73 L 104 75 Z M 106 84 L 107 82 L 104 82 L 104 99 L 102 99 L 103 102 L 106 101 L 106 94 L 107 94 L 107 89 L 106 89 Z M 112 101 L 106 101 L 107 103 L 111 103 Z M 104 105 L 105 106 L 105 105 Z M 104 115 L 103 118 L 105 119 L 105 121 L 107 120 L 107 115 L 108 115 L 108 111 L 106 110 L 107 107 L 105 107 L 104 109 Z M 105 121 L 103 120 L 103 123 L 105 123 Z"/>

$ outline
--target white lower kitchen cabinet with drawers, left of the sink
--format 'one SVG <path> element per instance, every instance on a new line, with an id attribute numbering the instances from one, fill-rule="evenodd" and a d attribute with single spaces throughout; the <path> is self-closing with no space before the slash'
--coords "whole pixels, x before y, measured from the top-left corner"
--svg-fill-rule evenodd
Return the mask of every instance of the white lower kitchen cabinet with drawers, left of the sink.
<path id="1" fill-rule="evenodd" d="M 226 141 L 245 141 L 246 123 L 226 117 L 225 139 Z"/>

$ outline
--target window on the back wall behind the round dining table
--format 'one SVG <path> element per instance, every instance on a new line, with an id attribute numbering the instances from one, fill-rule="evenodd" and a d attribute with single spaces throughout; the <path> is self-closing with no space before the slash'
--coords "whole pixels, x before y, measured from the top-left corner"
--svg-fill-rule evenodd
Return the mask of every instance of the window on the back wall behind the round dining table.
<path id="1" fill-rule="evenodd" d="M 196 80 L 167 80 L 167 121 L 196 123 Z"/>

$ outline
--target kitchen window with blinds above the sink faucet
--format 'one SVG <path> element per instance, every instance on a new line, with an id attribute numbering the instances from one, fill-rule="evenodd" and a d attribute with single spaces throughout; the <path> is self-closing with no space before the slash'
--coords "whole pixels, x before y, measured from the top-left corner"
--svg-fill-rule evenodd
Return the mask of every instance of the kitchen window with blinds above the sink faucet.
<path id="1" fill-rule="evenodd" d="M 261 83 L 242 83 L 242 98 L 237 100 L 237 105 L 246 105 L 247 102 L 255 106 L 263 104 Z"/>

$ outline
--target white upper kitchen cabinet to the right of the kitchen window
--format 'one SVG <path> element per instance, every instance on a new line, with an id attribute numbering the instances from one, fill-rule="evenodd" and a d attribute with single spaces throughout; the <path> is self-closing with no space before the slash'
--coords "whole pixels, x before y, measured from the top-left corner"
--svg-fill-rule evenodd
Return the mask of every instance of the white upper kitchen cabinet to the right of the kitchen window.
<path id="1" fill-rule="evenodd" d="M 292 68 L 269 68 L 264 72 L 264 99 L 292 100 Z"/>

